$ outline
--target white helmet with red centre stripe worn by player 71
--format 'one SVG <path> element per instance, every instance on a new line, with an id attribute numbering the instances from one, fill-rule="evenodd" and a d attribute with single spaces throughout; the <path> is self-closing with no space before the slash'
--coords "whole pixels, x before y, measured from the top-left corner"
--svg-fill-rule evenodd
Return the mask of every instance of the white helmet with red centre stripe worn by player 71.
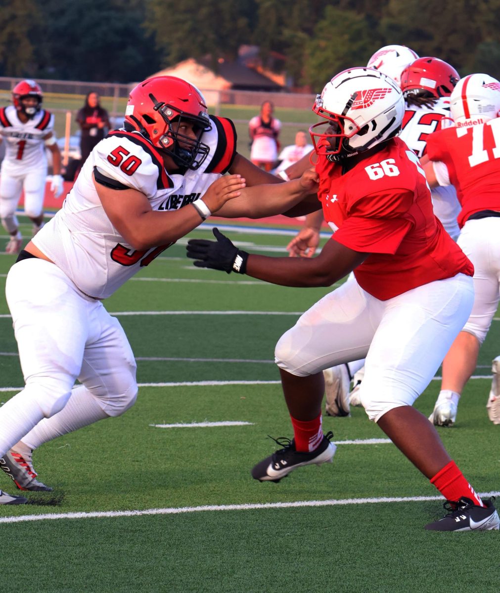
<path id="1" fill-rule="evenodd" d="M 451 117 L 458 127 L 498 117 L 500 82 L 488 74 L 469 74 L 457 82 L 450 96 Z"/>

